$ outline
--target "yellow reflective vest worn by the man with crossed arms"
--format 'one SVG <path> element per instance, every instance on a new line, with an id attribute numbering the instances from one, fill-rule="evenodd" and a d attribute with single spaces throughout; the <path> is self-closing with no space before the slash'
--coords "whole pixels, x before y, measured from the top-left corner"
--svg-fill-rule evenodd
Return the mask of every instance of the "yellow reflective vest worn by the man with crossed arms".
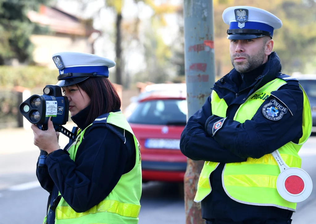
<path id="1" fill-rule="evenodd" d="M 286 84 L 283 79 L 276 78 L 258 89 L 248 99 L 240 105 L 235 113 L 234 120 L 244 123 L 251 120 L 254 114 L 264 101 L 265 95 L 270 95 L 272 91 L 278 90 Z M 301 87 L 303 90 L 303 88 Z M 284 162 L 289 167 L 301 167 L 301 158 L 298 155 L 303 143 L 305 143 L 312 130 L 311 107 L 305 91 L 303 90 L 303 135 L 298 144 L 289 142 L 278 149 Z M 224 99 L 220 99 L 213 90 L 211 95 L 211 106 L 213 115 L 226 117 L 228 105 Z M 201 171 L 197 193 L 194 201 L 200 202 L 211 192 L 210 174 L 218 163 L 206 161 Z M 222 184 L 226 194 L 233 200 L 251 205 L 275 206 L 282 209 L 295 211 L 296 203 L 284 200 L 276 190 L 276 179 L 280 174 L 280 169 L 271 154 L 261 158 L 247 158 L 246 162 L 225 164 L 222 173 Z"/>

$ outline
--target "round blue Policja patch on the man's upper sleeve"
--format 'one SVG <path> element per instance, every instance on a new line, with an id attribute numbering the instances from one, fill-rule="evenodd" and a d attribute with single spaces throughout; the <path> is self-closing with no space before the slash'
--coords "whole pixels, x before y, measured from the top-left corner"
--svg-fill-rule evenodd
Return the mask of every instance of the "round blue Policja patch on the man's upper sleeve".
<path id="1" fill-rule="evenodd" d="M 288 108 L 281 106 L 276 99 L 270 100 L 270 103 L 267 103 L 262 108 L 264 117 L 271 121 L 280 120 L 286 112 L 288 112 Z"/>

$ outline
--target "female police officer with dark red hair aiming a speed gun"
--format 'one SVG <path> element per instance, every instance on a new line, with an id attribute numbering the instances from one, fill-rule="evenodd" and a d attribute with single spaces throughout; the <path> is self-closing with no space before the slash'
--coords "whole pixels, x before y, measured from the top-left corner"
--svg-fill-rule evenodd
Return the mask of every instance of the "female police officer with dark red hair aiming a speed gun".
<path id="1" fill-rule="evenodd" d="M 50 192 L 44 223 L 138 223 L 141 160 L 138 141 L 120 111 L 108 68 L 115 62 L 91 54 L 53 55 L 58 86 L 70 102 L 76 139 L 60 149 L 52 121 L 48 130 L 32 126 L 34 144 L 48 153 L 37 168 Z"/>

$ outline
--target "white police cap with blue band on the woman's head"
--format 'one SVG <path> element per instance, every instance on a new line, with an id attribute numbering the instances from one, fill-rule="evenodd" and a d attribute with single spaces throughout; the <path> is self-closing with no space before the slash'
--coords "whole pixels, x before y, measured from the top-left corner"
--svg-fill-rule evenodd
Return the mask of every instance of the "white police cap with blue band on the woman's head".
<path id="1" fill-rule="evenodd" d="M 80 83 L 89 77 L 108 78 L 108 68 L 115 66 L 113 60 L 79 52 L 59 52 L 52 57 L 59 69 L 59 82 L 56 85 L 60 87 Z"/>

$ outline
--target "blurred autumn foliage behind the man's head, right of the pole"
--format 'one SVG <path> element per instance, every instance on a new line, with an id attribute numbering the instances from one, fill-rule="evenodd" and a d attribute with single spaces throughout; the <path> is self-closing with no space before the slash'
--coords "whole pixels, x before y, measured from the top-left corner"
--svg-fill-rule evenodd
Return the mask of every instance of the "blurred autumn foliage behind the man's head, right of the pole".
<path id="1" fill-rule="evenodd" d="M 231 69 L 228 25 L 222 12 L 229 6 L 248 5 L 276 15 L 283 23 L 273 35 L 274 51 L 279 55 L 282 72 L 316 73 L 316 1 L 314 0 L 214 0 L 216 75 Z"/>

